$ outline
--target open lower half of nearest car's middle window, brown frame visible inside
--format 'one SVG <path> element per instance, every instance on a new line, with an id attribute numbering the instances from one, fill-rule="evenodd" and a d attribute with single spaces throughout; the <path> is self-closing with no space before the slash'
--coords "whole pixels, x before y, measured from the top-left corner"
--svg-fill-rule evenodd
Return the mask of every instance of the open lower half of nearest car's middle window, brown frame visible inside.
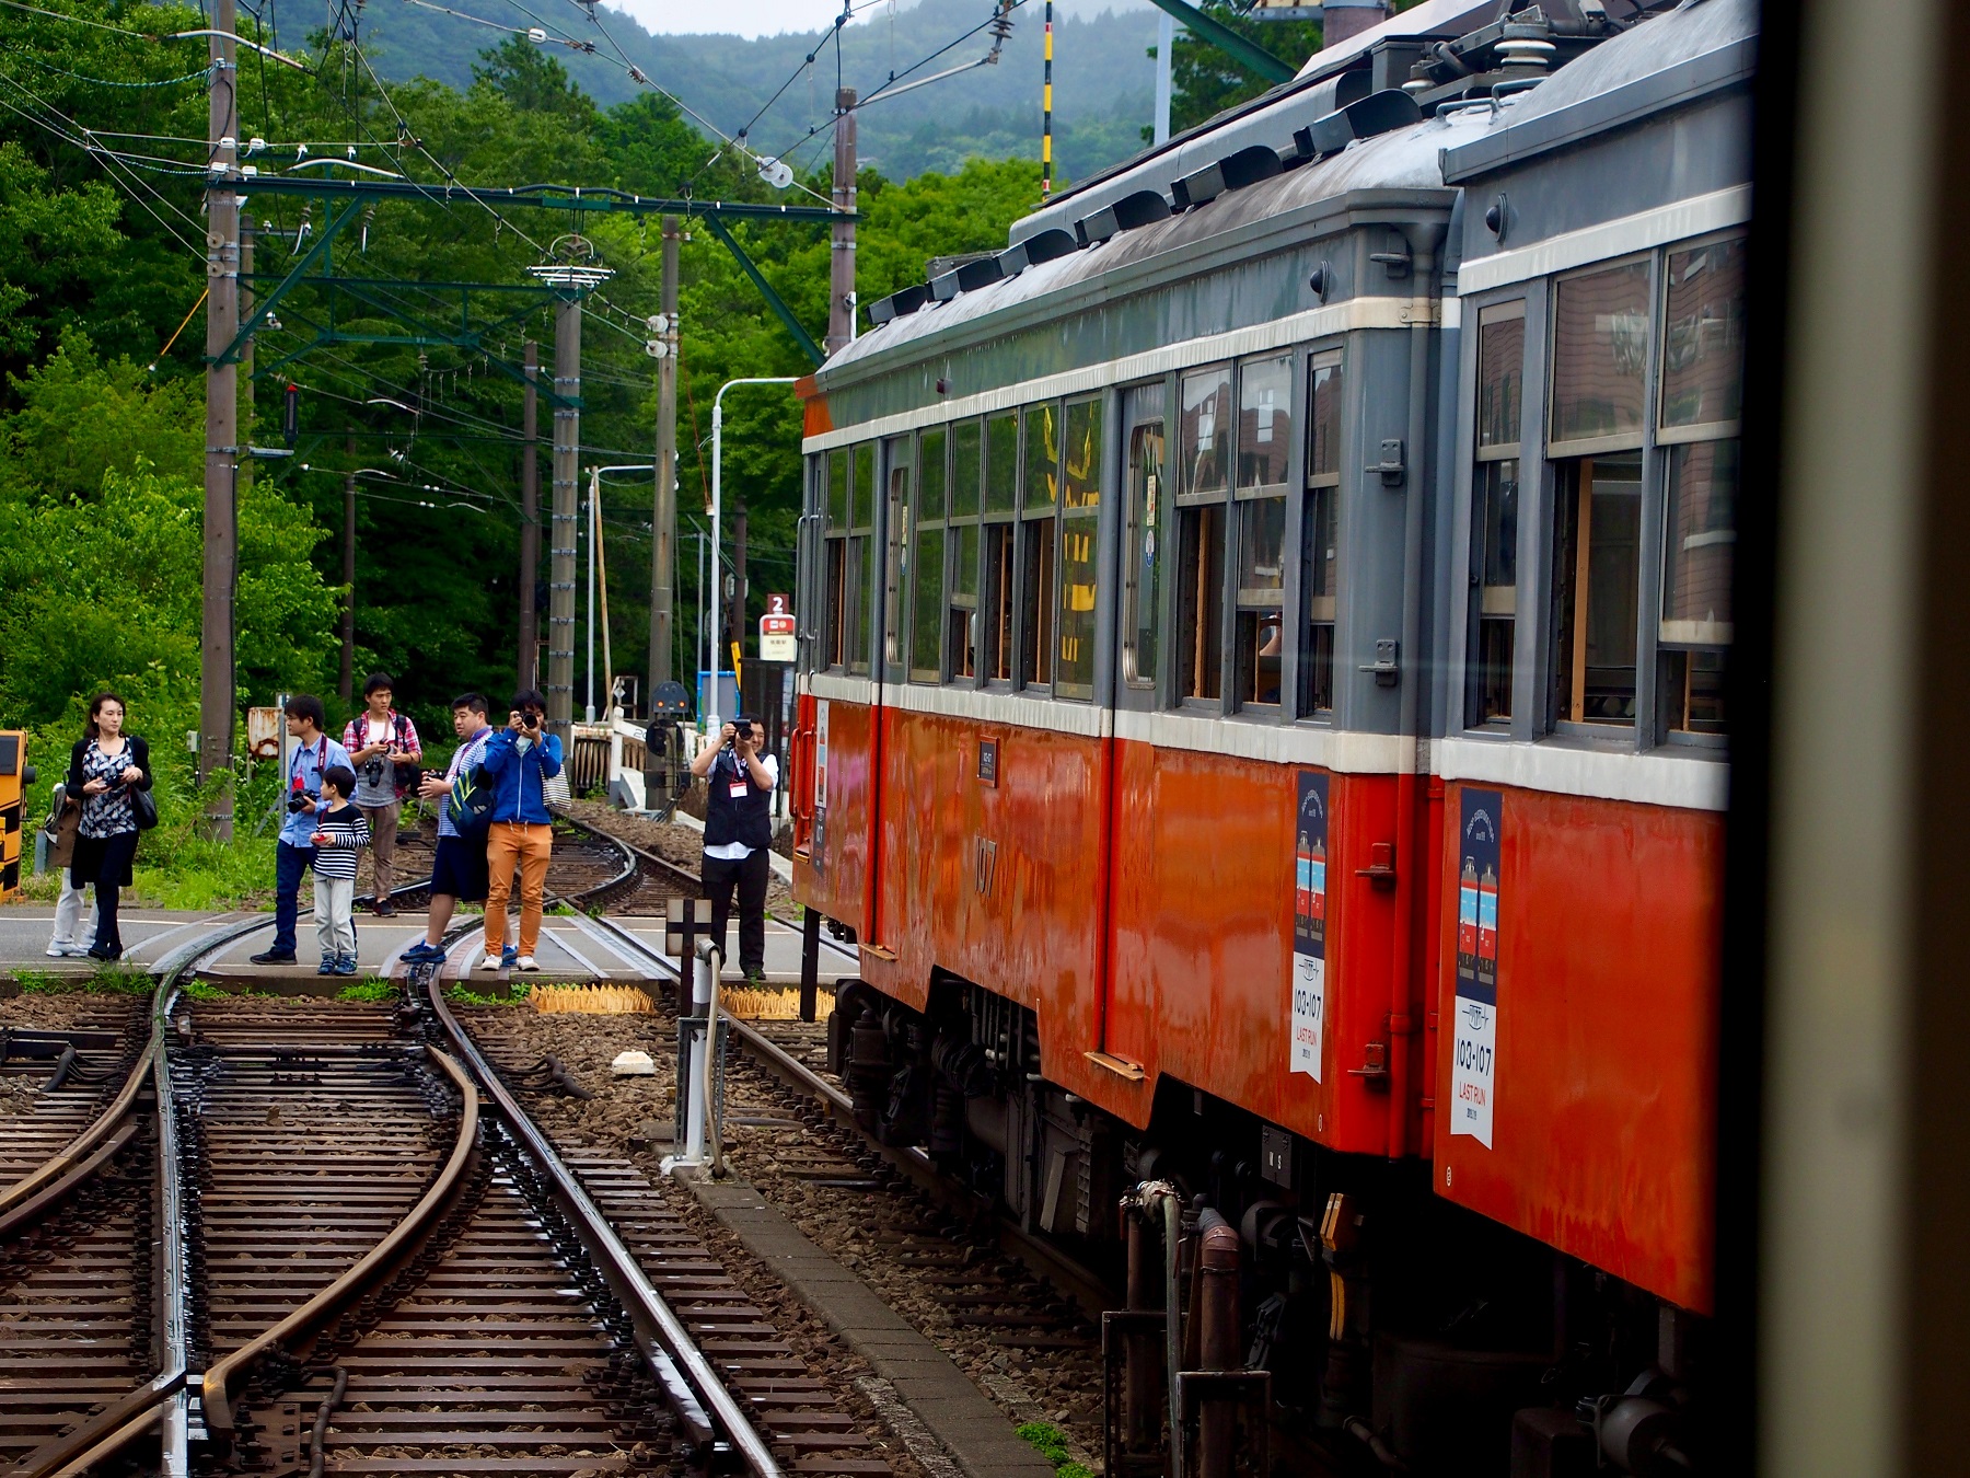
<path id="1" fill-rule="evenodd" d="M 1641 453 L 1562 463 L 1552 536 L 1552 680 L 1562 721 L 1635 721 L 1639 593 Z"/>

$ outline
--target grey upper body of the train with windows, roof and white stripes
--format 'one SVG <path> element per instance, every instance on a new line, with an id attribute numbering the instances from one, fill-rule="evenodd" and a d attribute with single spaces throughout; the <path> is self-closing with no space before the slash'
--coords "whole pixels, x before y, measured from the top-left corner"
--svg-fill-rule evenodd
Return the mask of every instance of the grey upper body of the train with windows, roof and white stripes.
<path id="1" fill-rule="evenodd" d="M 806 686 L 1722 808 L 1755 45 L 1426 0 L 871 305 Z"/>

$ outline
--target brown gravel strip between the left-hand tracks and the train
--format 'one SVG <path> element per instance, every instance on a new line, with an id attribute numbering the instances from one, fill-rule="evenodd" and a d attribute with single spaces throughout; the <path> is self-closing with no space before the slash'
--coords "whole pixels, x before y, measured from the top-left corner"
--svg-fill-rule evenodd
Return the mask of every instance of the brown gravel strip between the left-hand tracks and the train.
<path id="1" fill-rule="evenodd" d="M 772 1309 L 792 1309 L 796 1301 L 778 1289 L 772 1275 L 749 1259 L 737 1240 L 727 1238 L 701 1212 L 688 1190 L 662 1182 L 656 1163 L 670 1151 L 652 1143 L 644 1125 L 668 1125 L 674 1113 L 676 1037 L 668 1015 L 579 1017 L 534 1015 L 524 1009 L 483 1009 L 473 1013 L 481 1041 L 508 1042 L 514 1058 L 532 1060 L 552 1052 L 585 1086 L 593 1100 L 536 1098 L 536 1111 L 556 1133 L 579 1135 L 642 1165 L 664 1184 L 672 1204 L 686 1208 L 693 1224 L 729 1263 L 745 1263 L 764 1287 L 774 1289 Z M 609 1062 L 624 1048 L 640 1048 L 656 1060 L 656 1078 L 613 1078 Z M 818 1064 L 816 1064 L 818 1066 Z M 735 1056 L 727 1115 L 778 1106 L 778 1086 L 758 1068 Z M 918 1332 L 944 1350 L 1011 1421 L 1044 1419 L 1060 1427 L 1074 1454 L 1099 1472 L 1101 1452 L 1101 1354 L 1099 1334 L 1078 1309 L 1066 1303 L 1024 1267 L 1005 1257 L 997 1242 L 969 1234 L 942 1208 L 932 1206 L 914 1186 L 894 1176 L 861 1139 L 841 1129 L 729 1125 L 727 1163 L 778 1206 L 818 1245 L 869 1283 Z M 808 1176 L 865 1178 L 890 1182 L 885 1188 L 853 1190 L 818 1186 Z M 753 1285 L 747 1283 L 749 1291 Z M 965 1324 L 963 1312 L 979 1309 L 1030 1310 L 1050 1332 L 1066 1336 L 1068 1348 L 1015 1348 L 995 1338 L 991 1326 Z M 776 1314 L 778 1318 L 778 1314 Z M 816 1348 L 827 1348 L 831 1368 L 853 1356 L 835 1344 L 825 1326 L 800 1316 Z M 792 1322 L 784 1322 L 792 1338 Z"/>

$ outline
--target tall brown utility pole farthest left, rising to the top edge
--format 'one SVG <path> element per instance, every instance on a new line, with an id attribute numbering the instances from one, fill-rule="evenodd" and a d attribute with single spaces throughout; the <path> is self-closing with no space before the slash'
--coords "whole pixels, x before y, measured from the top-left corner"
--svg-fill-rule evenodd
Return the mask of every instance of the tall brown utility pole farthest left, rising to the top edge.
<path id="1" fill-rule="evenodd" d="M 232 840 L 232 587 L 238 546 L 238 367 L 215 363 L 240 325 L 238 61 L 232 0 L 213 0 L 211 102 L 213 146 L 205 191 L 205 621 L 199 637 L 199 780 L 217 782 L 205 796 L 205 830 Z"/>

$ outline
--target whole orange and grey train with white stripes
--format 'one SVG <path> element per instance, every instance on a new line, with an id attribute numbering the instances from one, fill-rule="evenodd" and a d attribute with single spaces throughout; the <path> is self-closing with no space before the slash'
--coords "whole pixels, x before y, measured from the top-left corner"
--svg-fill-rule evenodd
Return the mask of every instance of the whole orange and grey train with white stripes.
<path id="1" fill-rule="evenodd" d="M 1700 1468 L 1755 6 L 1495 12 L 820 370 L 794 883 L 859 1111 L 1225 1218 L 1316 1441 Z"/>

